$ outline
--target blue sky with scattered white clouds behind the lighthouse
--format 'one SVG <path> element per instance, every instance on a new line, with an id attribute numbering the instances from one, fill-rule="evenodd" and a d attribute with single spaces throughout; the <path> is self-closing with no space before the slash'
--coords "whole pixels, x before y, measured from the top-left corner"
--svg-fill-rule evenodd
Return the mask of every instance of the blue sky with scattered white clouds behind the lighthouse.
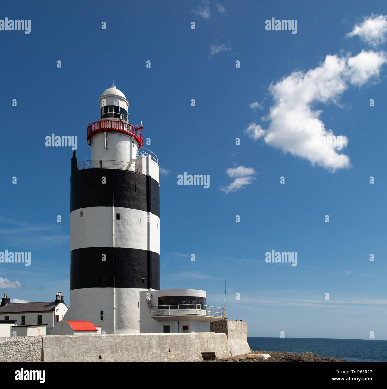
<path id="1" fill-rule="evenodd" d="M 32 260 L 0 264 L 0 293 L 70 302 L 72 150 L 45 137 L 77 135 L 90 159 L 86 127 L 114 78 L 164 169 L 161 288 L 222 307 L 226 279 L 226 316 L 249 336 L 387 340 L 383 14 L 361 1 L 4 4 L 0 19 L 31 31 L 0 31 L 0 251 Z M 271 18 L 297 33 L 265 30 Z M 321 134 L 342 150 L 311 146 Z M 177 185 L 184 172 L 210 187 Z M 266 263 L 271 250 L 297 266 Z"/>

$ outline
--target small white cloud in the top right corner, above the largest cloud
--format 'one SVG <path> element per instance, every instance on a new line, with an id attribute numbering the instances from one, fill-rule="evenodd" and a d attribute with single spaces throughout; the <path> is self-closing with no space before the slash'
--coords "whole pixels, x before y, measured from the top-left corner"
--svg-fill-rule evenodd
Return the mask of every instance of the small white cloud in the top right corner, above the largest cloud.
<path id="1" fill-rule="evenodd" d="M 362 23 L 354 25 L 354 29 L 347 37 L 352 38 L 354 35 L 359 35 L 364 42 L 374 47 L 384 43 L 387 35 L 387 16 L 374 14 L 367 16 Z"/>

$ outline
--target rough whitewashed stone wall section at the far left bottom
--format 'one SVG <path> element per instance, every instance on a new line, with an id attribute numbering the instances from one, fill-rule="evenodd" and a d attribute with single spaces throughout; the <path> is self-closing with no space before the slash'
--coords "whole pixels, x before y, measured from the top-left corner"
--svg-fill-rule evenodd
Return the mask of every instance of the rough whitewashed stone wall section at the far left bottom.
<path id="1" fill-rule="evenodd" d="M 42 336 L 0 338 L 0 362 L 40 362 Z"/>

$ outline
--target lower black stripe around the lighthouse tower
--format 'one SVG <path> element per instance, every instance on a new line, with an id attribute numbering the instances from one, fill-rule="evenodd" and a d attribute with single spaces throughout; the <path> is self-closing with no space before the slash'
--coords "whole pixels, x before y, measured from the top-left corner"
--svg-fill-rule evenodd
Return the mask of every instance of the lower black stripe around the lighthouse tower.
<path id="1" fill-rule="evenodd" d="M 116 174 L 114 174 L 114 178 Z M 116 180 L 114 180 L 116 185 Z M 149 251 L 114 248 L 114 273 L 116 288 L 160 289 L 160 255 L 152 252 L 152 278 L 148 279 Z M 102 254 L 106 261 L 102 261 Z M 87 247 L 70 253 L 70 290 L 99 288 L 102 276 L 107 276 L 104 287 L 113 287 L 113 248 Z M 142 283 L 144 279 L 144 283 Z"/>

